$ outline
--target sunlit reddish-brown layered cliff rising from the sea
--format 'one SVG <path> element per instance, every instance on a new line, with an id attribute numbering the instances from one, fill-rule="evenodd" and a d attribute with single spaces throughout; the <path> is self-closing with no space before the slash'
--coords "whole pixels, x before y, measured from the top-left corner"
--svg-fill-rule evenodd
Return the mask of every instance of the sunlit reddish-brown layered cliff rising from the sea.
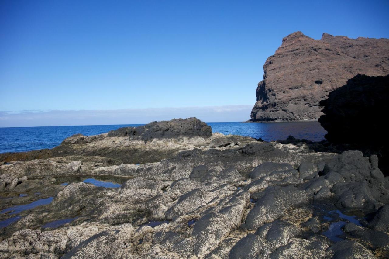
<path id="1" fill-rule="evenodd" d="M 349 39 L 323 33 L 320 40 L 294 32 L 263 66 L 251 121 L 317 119 L 319 102 L 357 74 L 389 73 L 389 39 Z"/>

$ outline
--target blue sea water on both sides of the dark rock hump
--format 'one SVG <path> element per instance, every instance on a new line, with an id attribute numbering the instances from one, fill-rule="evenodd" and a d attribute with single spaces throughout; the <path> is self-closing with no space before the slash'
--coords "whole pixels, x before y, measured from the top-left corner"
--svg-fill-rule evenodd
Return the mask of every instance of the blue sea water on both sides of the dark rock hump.
<path id="1" fill-rule="evenodd" d="M 327 133 L 317 121 L 207 122 L 207 124 L 212 127 L 213 132 L 262 138 L 265 141 L 286 139 L 289 135 L 321 141 Z M 0 128 L 0 153 L 53 148 L 60 145 L 65 138 L 77 133 L 91 136 L 112 129 L 140 125 L 144 124 Z"/>

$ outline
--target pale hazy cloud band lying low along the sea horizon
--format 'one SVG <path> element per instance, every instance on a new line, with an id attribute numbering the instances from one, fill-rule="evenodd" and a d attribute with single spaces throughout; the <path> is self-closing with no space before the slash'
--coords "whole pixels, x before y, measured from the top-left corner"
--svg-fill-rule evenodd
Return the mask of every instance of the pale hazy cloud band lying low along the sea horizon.
<path id="1" fill-rule="evenodd" d="M 205 122 L 247 121 L 252 105 L 166 107 L 128 110 L 0 111 L 0 127 L 138 124 L 197 117 Z"/>

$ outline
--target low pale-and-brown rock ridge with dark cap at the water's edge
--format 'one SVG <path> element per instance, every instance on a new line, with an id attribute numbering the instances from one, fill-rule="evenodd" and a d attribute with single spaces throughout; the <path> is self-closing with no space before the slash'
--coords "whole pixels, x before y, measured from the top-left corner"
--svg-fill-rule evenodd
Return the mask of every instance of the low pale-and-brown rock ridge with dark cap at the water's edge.
<path id="1" fill-rule="evenodd" d="M 75 134 L 53 149 L 3 153 L 0 154 L 0 161 L 61 157 L 61 161 L 81 160 L 110 165 L 151 163 L 170 158 L 173 154 L 194 146 L 208 146 L 210 142 L 228 145 L 247 140 L 251 141 L 251 138 L 226 139 L 222 134 L 212 135 L 212 128 L 196 118 L 172 119 L 154 121 L 144 126 L 119 128 L 95 136 Z"/>

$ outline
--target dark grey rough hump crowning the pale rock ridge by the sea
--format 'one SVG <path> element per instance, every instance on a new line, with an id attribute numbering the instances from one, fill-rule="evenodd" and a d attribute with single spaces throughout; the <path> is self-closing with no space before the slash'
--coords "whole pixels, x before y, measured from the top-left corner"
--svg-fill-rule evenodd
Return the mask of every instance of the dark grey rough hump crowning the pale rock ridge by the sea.
<path id="1" fill-rule="evenodd" d="M 108 137 L 140 136 L 142 140 L 153 138 L 203 137 L 212 136 L 212 128 L 196 118 L 153 121 L 144 126 L 124 127 L 112 130 Z"/>

